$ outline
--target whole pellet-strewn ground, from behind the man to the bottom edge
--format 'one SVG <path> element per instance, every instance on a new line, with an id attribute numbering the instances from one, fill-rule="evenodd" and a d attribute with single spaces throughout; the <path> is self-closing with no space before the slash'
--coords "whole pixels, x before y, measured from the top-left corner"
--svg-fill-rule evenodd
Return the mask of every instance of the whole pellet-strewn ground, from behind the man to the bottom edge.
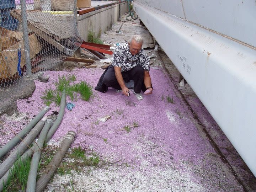
<path id="1" fill-rule="evenodd" d="M 138 20 L 125 22 L 122 33 L 116 34 L 119 25 L 116 23 L 112 30 L 102 34 L 101 39 L 115 44 L 137 33 L 146 39 L 145 42 L 152 41 Z M 95 91 L 90 102 L 79 98 L 72 111 L 65 109 L 63 121 L 53 135 L 52 142 L 58 143 L 69 130 L 75 131 L 71 147 L 81 146 L 91 151 L 89 146 L 93 146 L 92 150 L 109 164 L 82 167 L 79 174 L 75 171 L 71 175 L 55 174 L 45 191 L 243 191 L 209 138 L 198 129 L 190 108 L 177 94 L 176 84 L 162 68 L 164 63 L 158 52 L 147 52 L 157 56 L 151 59 L 154 60 L 150 69 L 152 95 L 144 95 L 144 99 L 138 101 L 133 94 L 122 96 L 111 88 L 105 94 Z M 50 76 L 47 83 L 35 80 L 33 95 L 17 100 L 17 112 L 13 116 L 0 117 L 0 146 L 42 109 L 42 91 L 46 87 L 54 89 L 59 75 L 75 73 L 76 82 L 86 81 L 95 87 L 103 73 L 102 64 L 95 63 L 97 68 L 46 71 Z M 167 102 L 167 97 L 173 98 L 174 103 Z M 223 134 L 217 134 L 217 124 L 206 116 L 207 111 L 194 95 L 190 104 L 197 108 L 198 116 L 205 119 L 204 123 L 208 123 L 213 133 L 218 129 L 216 138 L 228 143 Z M 50 107 L 47 115 L 59 111 L 54 104 Z M 97 121 L 105 115 L 110 115 L 111 119 L 105 123 Z M 138 127 L 133 127 L 134 122 Z M 124 126 L 130 126 L 130 132 L 124 130 Z M 255 177 L 251 178 L 255 181 Z M 255 184 L 248 185 L 254 187 Z"/>

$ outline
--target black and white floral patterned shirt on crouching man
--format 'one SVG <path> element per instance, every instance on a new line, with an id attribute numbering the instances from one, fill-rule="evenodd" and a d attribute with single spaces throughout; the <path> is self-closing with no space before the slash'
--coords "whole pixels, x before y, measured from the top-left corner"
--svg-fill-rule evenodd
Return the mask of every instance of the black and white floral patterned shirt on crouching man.
<path id="1" fill-rule="evenodd" d="M 149 59 L 146 52 L 140 49 L 138 54 L 132 55 L 128 43 L 120 44 L 114 50 L 112 65 L 121 67 L 121 72 L 129 71 L 137 65 L 149 71 Z"/>

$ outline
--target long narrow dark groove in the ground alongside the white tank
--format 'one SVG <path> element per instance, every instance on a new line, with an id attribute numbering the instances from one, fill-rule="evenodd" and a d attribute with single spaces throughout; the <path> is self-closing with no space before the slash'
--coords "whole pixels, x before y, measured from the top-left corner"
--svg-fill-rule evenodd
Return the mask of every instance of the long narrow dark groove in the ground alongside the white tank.
<path id="1" fill-rule="evenodd" d="M 162 61 L 162 63 L 164 63 L 161 53 L 159 53 L 159 57 Z M 214 142 L 214 140 L 212 139 L 212 137 L 210 136 L 210 134 L 207 132 L 207 130 L 205 129 L 205 127 L 203 126 L 203 124 L 201 123 L 200 119 L 198 118 L 197 114 L 193 111 L 192 107 L 190 106 L 190 104 L 188 103 L 187 99 L 185 98 L 185 96 L 182 94 L 182 92 L 180 90 L 178 90 L 178 86 L 175 83 L 174 79 L 172 78 L 169 70 L 166 68 L 165 64 L 163 64 L 163 68 L 165 70 L 165 73 L 167 73 L 167 75 L 169 76 L 171 82 L 174 84 L 175 88 L 176 88 L 176 92 L 178 92 L 178 94 L 181 96 L 182 100 L 186 103 L 188 110 L 191 112 L 194 120 L 202 127 L 202 130 L 204 132 L 204 134 L 206 134 L 206 137 L 208 138 L 210 144 L 212 145 L 212 147 L 214 148 L 214 150 L 217 152 L 218 155 L 220 155 L 221 160 L 228 165 L 229 170 L 231 171 L 231 173 L 234 175 L 234 177 L 236 178 L 236 180 L 238 181 L 238 183 L 242 186 L 243 190 L 245 192 L 248 192 L 248 190 L 246 189 L 246 187 L 244 186 L 244 183 L 240 180 L 240 178 L 238 177 L 238 175 L 236 175 L 233 167 L 230 165 L 230 163 L 228 162 L 228 160 L 225 158 L 224 154 L 222 153 L 222 151 L 219 149 L 218 145 Z"/>

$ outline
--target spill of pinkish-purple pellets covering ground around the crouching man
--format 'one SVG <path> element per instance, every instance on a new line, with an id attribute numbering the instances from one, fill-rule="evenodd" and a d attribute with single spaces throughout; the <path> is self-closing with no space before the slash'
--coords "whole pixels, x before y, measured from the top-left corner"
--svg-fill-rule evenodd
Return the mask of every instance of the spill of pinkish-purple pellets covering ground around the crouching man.
<path id="1" fill-rule="evenodd" d="M 32 118 L 44 107 L 41 99 L 42 91 L 52 87 L 58 76 L 70 73 L 69 71 L 46 71 L 50 76 L 49 82 L 35 81 L 36 90 L 32 97 L 18 100 L 18 111 L 27 113 Z M 76 69 L 76 82 L 86 81 L 96 86 L 98 79 L 103 73 L 102 69 Z M 131 93 L 130 97 L 122 96 L 115 89 L 109 88 L 104 94 L 94 90 L 95 97 L 90 102 L 83 101 L 79 97 L 74 101 L 75 107 L 72 111 L 65 108 L 64 118 L 59 128 L 53 135 L 54 140 L 60 140 L 68 131 L 76 132 L 73 147 L 79 145 L 89 148 L 94 146 L 102 158 L 110 161 L 122 160 L 123 162 L 140 165 L 145 159 L 151 162 L 152 166 L 159 164 L 160 159 L 155 158 L 158 153 L 161 162 L 171 165 L 181 160 L 190 161 L 193 164 L 201 164 L 201 159 L 206 153 L 214 152 L 209 142 L 202 139 L 197 128 L 191 121 L 191 115 L 180 99 L 176 97 L 174 86 L 165 77 L 161 69 L 151 69 L 150 75 L 154 87 L 153 94 L 143 95 L 144 99 L 138 101 Z M 166 97 L 174 98 L 174 104 L 168 103 Z M 67 97 L 66 102 L 71 102 Z M 47 115 L 53 111 L 59 111 L 59 107 L 51 104 Z M 122 114 L 117 114 L 117 110 Z M 177 110 L 182 113 L 180 119 Z M 97 118 L 110 115 L 105 123 L 98 122 Z M 6 132 L 15 122 L 5 121 Z M 138 122 L 139 127 L 132 127 L 133 122 Z M 22 124 L 16 122 L 19 132 Z M 130 126 L 130 132 L 124 130 L 124 126 Z M 8 135 L 9 136 L 9 135 Z M 13 134 L 10 134 L 10 138 Z M 104 141 L 105 139 L 105 141 Z M 107 139 L 107 140 L 106 140 Z M 1 138 L 2 144 L 7 142 Z M 150 148 L 144 148 L 143 143 L 152 143 Z M 182 168 L 181 168 L 182 169 Z"/>

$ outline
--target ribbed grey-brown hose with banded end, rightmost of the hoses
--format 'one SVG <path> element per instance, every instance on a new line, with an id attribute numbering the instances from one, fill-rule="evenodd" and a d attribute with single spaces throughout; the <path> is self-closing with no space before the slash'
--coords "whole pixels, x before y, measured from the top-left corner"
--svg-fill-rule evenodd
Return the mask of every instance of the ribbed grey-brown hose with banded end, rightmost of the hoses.
<path id="1" fill-rule="evenodd" d="M 47 186 L 50 178 L 53 176 L 54 172 L 57 170 L 57 166 L 60 164 L 62 158 L 69 149 L 71 143 L 75 138 L 75 132 L 69 131 L 66 137 L 64 137 L 62 144 L 58 152 L 54 155 L 53 159 L 50 161 L 49 165 L 46 167 L 44 174 L 39 178 L 36 183 L 36 192 L 41 192 Z"/>

